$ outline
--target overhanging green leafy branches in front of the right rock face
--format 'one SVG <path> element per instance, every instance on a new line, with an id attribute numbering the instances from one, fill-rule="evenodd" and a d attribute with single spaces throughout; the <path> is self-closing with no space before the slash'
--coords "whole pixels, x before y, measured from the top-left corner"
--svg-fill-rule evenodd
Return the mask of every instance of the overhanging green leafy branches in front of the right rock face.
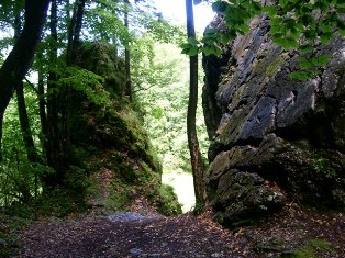
<path id="1" fill-rule="evenodd" d="M 305 80 L 321 74 L 329 64 L 329 55 L 318 55 L 315 45 L 326 45 L 336 34 L 345 35 L 345 4 L 341 0 L 297 1 L 279 0 L 278 3 L 263 5 L 255 0 L 215 0 L 213 11 L 223 15 L 226 31 L 209 29 L 201 41 L 181 45 L 182 53 L 193 56 L 197 53 L 220 56 L 222 47 L 238 34 L 249 31 L 248 22 L 261 14 L 270 19 L 270 35 L 274 43 L 285 49 L 308 53 L 302 57 L 300 70 L 292 72 L 292 79 Z"/>

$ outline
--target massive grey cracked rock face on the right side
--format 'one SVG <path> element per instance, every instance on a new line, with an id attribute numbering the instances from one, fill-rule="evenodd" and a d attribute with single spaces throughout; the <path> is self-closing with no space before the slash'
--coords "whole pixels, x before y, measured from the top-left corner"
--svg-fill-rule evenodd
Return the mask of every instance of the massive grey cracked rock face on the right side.
<path id="1" fill-rule="evenodd" d="M 211 24 L 221 29 L 221 22 Z M 299 55 L 271 43 L 265 18 L 220 57 L 205 57 L 203 109 L 209 199 L 224 224 L 287 201 L 345 207 L 345 41 L 316 47 L 332 60 L 298 81 Z"/>

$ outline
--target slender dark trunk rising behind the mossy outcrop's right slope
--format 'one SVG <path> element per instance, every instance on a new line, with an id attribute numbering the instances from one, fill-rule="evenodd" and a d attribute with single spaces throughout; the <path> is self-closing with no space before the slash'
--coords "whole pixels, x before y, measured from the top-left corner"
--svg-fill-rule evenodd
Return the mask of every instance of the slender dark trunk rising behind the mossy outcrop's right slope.
<path id="1" fill-rule="evenodd" d="M 125 3 L 125 11 L 124 11 L 124 26 L 130 32 L 130 24 L 129 24 L 129 8 L 130 1 L 124 0 Z M 129 33 L 130 34 L 130 33 Z M 130 43 L 127 38 L 127 43 L 124 49 L 124 66 L 125 66 L 125 94 L 132 99 L 132 81 L 131 81 L 131 52 L 130 52 Z"/>

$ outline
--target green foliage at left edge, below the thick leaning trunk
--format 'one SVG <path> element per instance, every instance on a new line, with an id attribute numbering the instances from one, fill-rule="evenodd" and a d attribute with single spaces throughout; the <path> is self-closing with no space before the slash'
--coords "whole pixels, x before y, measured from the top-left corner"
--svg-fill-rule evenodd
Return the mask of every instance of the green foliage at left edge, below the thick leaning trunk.
<path id="1" fill-rule="evenodd" d="M 36 106 L 37 97 L 31 88 L 25 87 L 27 115 L 37 149 L 40 149 L 40 119 Z M 32 201 L 41 189 L 38 178 L 49 172 L 51 168 L 38 162 L 29 162 L 26 149 L 22 142 L 15 99 L 7 109 L 3 121 L 3 160 L 0 164 L 0 206 L 12 202 Z"/>

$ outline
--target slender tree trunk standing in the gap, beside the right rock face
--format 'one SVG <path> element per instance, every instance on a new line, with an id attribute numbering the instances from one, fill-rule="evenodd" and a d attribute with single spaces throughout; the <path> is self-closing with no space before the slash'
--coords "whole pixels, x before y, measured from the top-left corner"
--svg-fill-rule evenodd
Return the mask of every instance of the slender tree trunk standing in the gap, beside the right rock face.
<path id="1" fill-rule="evenodd" d="M 196 38 L 192 0 L 186 0 L 186 11 L 187 11 L 187 36 L 188 38 Z M 204 167 L 202 156 L 199 149 L 199 142 L 196 127 L 197 105 L 198 105 L 198 54 L 194 56 L 190 56 L 190 82 L 187 113 L 187 135 L 191 157 L 197 207 L 199 209 L 203 207 L 205 204 L 207 191 L 204 182 Z"/>

